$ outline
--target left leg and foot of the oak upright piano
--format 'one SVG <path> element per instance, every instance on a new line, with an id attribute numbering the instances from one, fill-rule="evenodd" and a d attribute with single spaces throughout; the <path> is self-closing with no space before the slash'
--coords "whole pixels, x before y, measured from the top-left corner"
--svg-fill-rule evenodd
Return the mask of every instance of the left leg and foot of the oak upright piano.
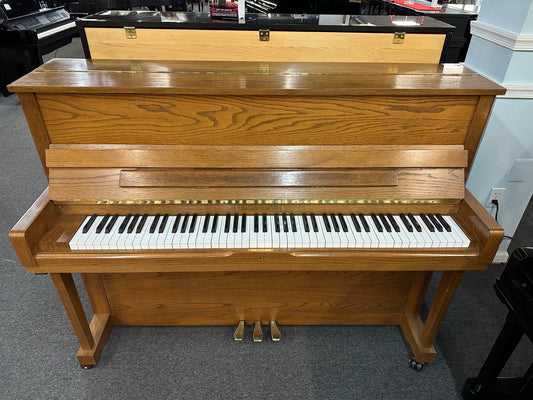
<path id="1" fill-rule="evenodd" d="M 89 325 L 71 274 L 50 274 L 59 298 L 80 342 L 78 362 L 83 368 L 95 366 L 111 329 L 111 311 L 99 274 L 82 274 L 94 316 Z"/>

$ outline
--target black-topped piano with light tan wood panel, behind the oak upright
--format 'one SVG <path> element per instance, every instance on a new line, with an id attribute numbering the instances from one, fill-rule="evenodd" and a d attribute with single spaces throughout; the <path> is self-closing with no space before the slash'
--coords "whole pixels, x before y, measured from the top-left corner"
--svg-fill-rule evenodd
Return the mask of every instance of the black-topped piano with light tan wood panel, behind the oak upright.
<path id="1" fill-rule="evenodd" d="M 438 63 L 455 27 L 430 17 L 103 11 L 77 20 L 93 60 Z"/>

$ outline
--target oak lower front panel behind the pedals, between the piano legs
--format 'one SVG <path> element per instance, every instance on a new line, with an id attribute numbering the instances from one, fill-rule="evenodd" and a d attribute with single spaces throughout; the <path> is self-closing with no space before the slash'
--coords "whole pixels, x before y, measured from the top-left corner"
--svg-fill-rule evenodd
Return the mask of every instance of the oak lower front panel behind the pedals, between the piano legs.
<path id="1" fill-rule="evenodd" d="M 117 325 L 399 324 L 413 272 L 103 274 Z"/>

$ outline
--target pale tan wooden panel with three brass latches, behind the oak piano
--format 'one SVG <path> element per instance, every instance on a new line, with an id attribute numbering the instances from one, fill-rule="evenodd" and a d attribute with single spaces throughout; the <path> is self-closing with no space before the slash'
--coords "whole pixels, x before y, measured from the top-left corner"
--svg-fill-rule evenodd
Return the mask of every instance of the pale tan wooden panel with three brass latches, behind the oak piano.
<path id="1" fill-rule="evenodd" d="M 121 28 L 85 28 L 92 59 L 403 62 L 437 64 L 446 35 L 394 33 L 271 31 L 259 41 L 257 31 L 139 29 L 127 39 Z"/>

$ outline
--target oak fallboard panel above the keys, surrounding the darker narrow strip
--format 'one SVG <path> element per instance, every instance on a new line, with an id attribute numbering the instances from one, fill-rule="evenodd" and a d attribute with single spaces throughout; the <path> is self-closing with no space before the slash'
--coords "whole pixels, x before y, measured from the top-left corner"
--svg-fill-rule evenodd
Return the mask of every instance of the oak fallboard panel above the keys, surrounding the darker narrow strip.
<path id="1" fill-rule="evenodd" d="M 53 200 L 462 199 L 463 169 L 399 169 L 398 186 L 120 187 L 120 169 L 50 169 Z"/>

